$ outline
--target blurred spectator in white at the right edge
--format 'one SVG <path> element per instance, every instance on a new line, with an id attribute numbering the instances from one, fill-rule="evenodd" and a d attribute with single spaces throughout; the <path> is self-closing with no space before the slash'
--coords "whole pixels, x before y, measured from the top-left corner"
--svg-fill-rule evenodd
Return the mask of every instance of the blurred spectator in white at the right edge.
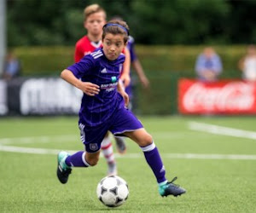
<path id="1" fill-rule="evenodd" d="M 249 45 L 247 54 L 239 60 L 238 66 L 242 72 L 242 78 L 246 81 L 256 81 L 256 47 Z"/>

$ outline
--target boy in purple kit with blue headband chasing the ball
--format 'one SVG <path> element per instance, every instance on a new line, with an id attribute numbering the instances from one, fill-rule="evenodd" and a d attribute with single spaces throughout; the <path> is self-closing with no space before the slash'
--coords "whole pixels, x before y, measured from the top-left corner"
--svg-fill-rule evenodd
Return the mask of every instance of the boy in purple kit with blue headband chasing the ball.
<path id="1" fill-rule="evenodd" d="M 161 196 L 178 196 L 185 189 L 166 180 L 166 170 L 152 136 L 143 124 L 128 110 L 129 97 L 119 82 L 129 36 L 124 21 L 116 20 L 103 26 L 102 48 L 84 56 L 78 63 L 61 72 L 61 78 L 84 92 L 79 112 L 79 128 L 85 151 L 69 155 L 58 154 L 57 176 L 67 183 L 72 167 L 89 167 L 97 164 L 104 135 L 126 136 L 143 150 L 148 165 L 154 172 Z"/>

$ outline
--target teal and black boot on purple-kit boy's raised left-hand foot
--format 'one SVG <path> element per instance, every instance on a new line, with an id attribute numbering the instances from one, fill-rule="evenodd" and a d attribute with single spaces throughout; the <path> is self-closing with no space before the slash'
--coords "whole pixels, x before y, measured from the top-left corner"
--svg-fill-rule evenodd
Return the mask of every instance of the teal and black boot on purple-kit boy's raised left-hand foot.
<path id="1" fill-rule="evenodd" d="M 68 176 L 71 174 L 71 167 L 67 166 L 65 160 L 69 156 L 68 153 L 61 151 L 58 153 L 58 167 L 57 167 L 57 176 L 61 183 L 66 183 L 68 180 Z"/>

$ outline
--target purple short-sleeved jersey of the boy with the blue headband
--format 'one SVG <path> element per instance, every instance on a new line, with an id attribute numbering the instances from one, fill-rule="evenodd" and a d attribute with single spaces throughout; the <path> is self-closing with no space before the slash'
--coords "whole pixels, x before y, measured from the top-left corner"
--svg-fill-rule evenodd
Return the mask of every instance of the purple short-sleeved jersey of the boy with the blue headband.
<path id="1" fill-rule="evenodd" d="M 117 91 L 124 61 L 123 54 L 119 55 L 117 60 L 108 60 L 100 48 L 90 55 L 85 55 L 78 63 L 67 67 L 76 78 L 100 86 L 98 95 L 84 94 L 79 111 L 79 123 L 88 126 L 103 124 L 115 110 L 124 107 L 123 97 Z"/>

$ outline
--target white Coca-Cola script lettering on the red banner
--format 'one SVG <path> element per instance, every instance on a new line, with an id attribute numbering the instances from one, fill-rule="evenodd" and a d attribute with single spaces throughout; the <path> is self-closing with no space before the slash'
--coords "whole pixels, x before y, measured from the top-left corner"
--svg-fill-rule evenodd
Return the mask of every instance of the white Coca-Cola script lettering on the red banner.
<path id="1" fill-rule="evenodd" d="M 246 111 L 255 102 L 255 84 L 244 82 L 207 86 L 193 83 L 183 96 L 183 107 L 188 112 Z"/>

